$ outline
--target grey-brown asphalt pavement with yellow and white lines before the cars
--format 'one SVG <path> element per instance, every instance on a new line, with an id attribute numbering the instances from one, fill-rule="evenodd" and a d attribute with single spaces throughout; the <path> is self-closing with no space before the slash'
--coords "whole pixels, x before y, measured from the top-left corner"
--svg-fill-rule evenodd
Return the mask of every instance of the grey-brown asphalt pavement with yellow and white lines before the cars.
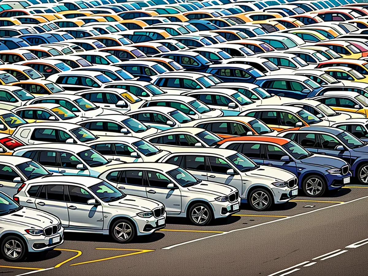
<path id="1" fill-rule="evenodd" d="M 183 219 L 150 238 L 117 244 L 102 235 L 67 233 L 64 244 L 22 263 L 0 259 L 16 275 L 368 275 L 368 187 L 323 198 L 297 197 L 268 212 L 247 205 L 206 227 Z"/>

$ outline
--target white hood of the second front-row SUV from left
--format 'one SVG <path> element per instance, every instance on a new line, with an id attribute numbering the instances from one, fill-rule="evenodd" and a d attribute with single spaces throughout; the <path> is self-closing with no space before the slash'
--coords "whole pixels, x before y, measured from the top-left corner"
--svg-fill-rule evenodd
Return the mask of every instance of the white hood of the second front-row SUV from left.
<path id="1" fill-rule="evenodd" d="M 162 203 L 142 197 L 135 197 L 134 195 L 126 195 L 124 198 L 114 202 L 109 202 L 107 205 L 114 208 L 128 208 L 131 212 L 149 212 L 155 208 L 163 206 Z"/>

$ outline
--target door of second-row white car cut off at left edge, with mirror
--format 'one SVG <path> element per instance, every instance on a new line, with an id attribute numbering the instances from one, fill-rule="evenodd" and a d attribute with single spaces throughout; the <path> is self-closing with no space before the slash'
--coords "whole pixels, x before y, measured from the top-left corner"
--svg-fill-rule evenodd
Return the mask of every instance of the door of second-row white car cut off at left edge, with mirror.
<path id="1" fill-rule="evenodd" d="M 18 178 L 19 180 L 16 180 Z M 0 164 L 0 191 L 13 198 L 21 182 L 25 179 L 15 170 L 13 166 Z"/>

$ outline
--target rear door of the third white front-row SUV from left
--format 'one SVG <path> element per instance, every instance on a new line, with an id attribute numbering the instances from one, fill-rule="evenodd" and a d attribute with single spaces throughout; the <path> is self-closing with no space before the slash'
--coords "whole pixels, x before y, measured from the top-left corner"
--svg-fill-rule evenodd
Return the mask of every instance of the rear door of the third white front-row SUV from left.
<path id="1" fill-rule="evenodd" d="M 124 170 L 119 176 L 117 188 L 128 195 L 147 197 L 143 170 Z"/>

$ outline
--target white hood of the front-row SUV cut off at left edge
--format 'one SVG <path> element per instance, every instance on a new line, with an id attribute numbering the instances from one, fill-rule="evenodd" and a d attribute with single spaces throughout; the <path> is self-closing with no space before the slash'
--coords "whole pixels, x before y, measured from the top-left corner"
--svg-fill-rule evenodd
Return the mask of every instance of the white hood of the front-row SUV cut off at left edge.
<path id="1" fill-rule="evenodd" d="M 49 213 L 40 210 L 23 207 L 21 210 L 0 216 L 1 224 L 16 224 L 30 229 L 44 229 L 52 224 L 58 224 L 60 220 Z"/>

